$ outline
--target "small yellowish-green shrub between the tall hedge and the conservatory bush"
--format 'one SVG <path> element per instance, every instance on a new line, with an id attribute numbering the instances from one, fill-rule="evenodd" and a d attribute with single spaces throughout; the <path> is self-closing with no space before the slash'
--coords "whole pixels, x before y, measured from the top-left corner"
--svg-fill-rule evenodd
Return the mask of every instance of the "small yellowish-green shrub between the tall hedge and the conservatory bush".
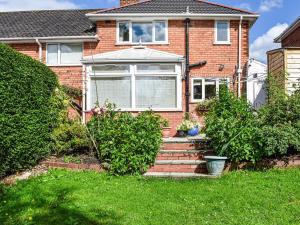
<path id="1" fill-rule="evenodd" d="M 88 153 L 91 141 L 86 127 L 80 121 L 67 120 L 53 132 L 54 152 L 56 155 Z"/>

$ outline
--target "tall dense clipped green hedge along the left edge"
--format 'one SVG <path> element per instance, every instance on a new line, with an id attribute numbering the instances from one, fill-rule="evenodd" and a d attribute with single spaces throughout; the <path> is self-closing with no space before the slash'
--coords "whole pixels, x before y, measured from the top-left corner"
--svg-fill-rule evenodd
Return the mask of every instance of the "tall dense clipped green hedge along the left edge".
<path id="1" fill-rule="evenodd" d="M 49 154 L 60 110 L 57 87 L 47 66 L 0 44 L 0 177 Z"/>

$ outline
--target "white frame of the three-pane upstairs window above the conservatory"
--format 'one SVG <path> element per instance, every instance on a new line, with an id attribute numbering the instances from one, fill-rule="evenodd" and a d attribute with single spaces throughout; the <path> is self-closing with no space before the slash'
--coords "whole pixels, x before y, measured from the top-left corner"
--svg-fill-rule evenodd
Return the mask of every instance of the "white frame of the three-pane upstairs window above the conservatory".
<path id="1" fill-rule="evenodd" d="M 156 41 L 155 40 L 155 23 L 164 22 L 166 25 L 166 40 L 165 41 Z M 128 23 L 129 24 L 129 41 L 120 41 L 120 30 L 119 24 L 120 23 Z M 142 20 L 142 21 L 130 21 L 130 20 L 120 20 L 117 21 L 116 27 L 116 44 L 117 45 L 139 45 L 139 42 L 132 42 L 132 23 L 152 23 L 152 42 L 142 42 L 143 45 L 161 45 L 161 44 L 168 44 L 169 41 L 169 27 L 168 27 L 168 20 Z"/>

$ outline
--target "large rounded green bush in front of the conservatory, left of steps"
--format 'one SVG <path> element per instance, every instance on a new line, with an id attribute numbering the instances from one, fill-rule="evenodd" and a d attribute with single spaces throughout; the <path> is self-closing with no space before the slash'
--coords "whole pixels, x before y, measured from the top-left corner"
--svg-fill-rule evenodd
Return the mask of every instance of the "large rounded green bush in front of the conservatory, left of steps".
<path id="1" fill-rule="evenodd" d="M 97 109 L 88 128 L 100 160 L 115 175 L 141 174 L 154 163 L 162 144 L 161 118 L 152 112 L 138 116 L 119 112 L 111 104 Z"/>

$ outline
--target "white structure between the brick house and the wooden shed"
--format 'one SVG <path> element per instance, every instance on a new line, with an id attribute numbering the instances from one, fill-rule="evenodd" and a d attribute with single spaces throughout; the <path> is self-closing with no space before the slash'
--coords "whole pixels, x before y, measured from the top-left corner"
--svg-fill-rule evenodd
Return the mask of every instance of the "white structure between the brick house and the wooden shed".
<path id="1" fill-rule="evenodd" d="M 247 99 L 256 109 L 267 101 L 266 80 L 267 65 L 258 60 L 250 59 L 247 74 Z"/>

